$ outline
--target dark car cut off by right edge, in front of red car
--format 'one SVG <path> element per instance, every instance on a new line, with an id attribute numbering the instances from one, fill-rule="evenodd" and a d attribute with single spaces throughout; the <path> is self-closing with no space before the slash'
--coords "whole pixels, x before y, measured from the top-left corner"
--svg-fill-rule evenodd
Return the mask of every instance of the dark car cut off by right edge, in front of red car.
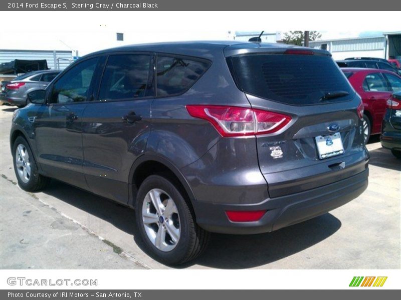
<path id="1" fill-rule="evenodd" d="M 393 93 L 387 100 L 381 128 L 381 145 L 390 149 L 395 157 L 401 158 L 401 92 Z"/>

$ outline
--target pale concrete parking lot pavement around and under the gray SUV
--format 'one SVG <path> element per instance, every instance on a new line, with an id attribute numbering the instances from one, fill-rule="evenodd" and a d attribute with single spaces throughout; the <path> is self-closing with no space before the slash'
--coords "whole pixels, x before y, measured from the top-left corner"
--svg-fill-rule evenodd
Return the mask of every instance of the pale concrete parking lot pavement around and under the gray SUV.
<path id="1" fill-rule="evenodd" d="M 1 268 L 167 268 L 142 251 L 131 209 L 54 180 L 42 192 L 16 184 L 9 131 L 14 106 L 0 106 Z M 309 221 L 272 233 L 213 234 L 189 268 L 375 269 L 400 267 L 401 161 L 377 136 L 367 190 Z"/>

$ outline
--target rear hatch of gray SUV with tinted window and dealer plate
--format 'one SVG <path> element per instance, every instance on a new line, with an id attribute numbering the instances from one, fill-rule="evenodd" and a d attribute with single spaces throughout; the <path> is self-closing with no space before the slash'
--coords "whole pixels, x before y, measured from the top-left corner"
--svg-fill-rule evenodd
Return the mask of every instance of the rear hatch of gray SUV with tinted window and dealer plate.
<path id="1" fill-rule="evenodd" d="M 361 99 L 329 52 L 261 46 L 228 50 L 226 57 L 254 109 L 291 117 L 277 132 L 256 135 L 259 166 L 271 197 L 329 184 L 367 168 Z"/>

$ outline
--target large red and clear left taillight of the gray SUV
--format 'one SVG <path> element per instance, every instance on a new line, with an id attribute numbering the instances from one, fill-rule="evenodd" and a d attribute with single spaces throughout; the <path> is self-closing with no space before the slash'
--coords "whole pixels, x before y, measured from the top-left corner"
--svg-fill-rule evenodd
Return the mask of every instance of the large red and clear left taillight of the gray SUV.
<path id="1" fill-rule="evenodd" d="M 210 121 L 222 136 L 273 133 L 291 121 L 285 114 L 237 106 L 186 105 L 193 117 Z"/>

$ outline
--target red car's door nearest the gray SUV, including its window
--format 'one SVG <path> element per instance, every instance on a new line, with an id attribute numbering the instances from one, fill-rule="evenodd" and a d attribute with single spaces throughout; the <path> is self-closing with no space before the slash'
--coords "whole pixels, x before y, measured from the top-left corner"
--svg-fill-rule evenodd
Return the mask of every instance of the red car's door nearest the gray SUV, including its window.
<path id="1" fill-rule="evenodd" d="M 371 133 L 380 133 L 386 101 L 391 94 L 390 87 L 381 72 L 368 73 L 365 76 L 362 87 L 361 96 L 367 101 L 373 119 Z"/>

